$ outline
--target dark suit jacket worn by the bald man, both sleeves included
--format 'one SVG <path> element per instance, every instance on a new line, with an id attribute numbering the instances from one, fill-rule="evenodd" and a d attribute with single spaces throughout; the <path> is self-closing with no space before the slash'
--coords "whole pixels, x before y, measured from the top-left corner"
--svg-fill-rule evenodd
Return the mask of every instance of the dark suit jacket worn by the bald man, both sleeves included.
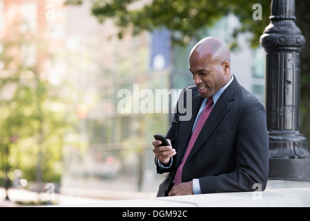
<path id="1" fill-rule="evenodd" d="M 191 137 L 191 129 L 203 98 L 197 86 L 184 89 L 184 96 L 192 90 L 193 116 L 180 121 L 177 110 L 166 137 L 177 154 L 169 173 L 159 186 L 157 197 L 168 195 L 173 186 L 177 166 Z M 155 160 L 157 162 L 157 160 Z M 202 193 L 255 191 L 257 185 L 266 188 L 269 172 L 269 135 L 264 106 L 233 79 L 215 104 L 183 167 L 182 182 L 200 179 Z M 255 186 L 253 186 L 255 184 Z"/>

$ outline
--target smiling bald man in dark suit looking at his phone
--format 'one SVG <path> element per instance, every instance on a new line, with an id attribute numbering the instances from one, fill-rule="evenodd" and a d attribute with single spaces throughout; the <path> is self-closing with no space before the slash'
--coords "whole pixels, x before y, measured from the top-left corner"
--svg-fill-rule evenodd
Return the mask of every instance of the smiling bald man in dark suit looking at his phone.
<path id="1" fill-rule="evenodd" d="M 157 173 L 168 173 L 157 197 L 263 191 L 269 171 L 264 106 L 231 74 L 229 48 L 221 39 L 202 39 L 188 61 L 195 86 L 180 99 L 191 117 L 182 120 L 177 108 L 166 134 L 171 146 L 152 142 Z"/>

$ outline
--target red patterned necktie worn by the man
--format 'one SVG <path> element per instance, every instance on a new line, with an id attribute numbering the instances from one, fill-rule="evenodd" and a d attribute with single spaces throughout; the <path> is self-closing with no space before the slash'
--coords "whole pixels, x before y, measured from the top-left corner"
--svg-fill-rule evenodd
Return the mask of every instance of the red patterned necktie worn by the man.
<path id="1" fill-rule="evenodd" d="M 177 173 L 175 173 L 175 179 L 173 180 L 173 183 L 175 184 L 175 186 L 182 182 L 183 166 L 186 162 L 186 159 L 187 159 L 189 153 L 191 153 L 191 149 L 193 148 L 200 131 L 202 130 L 202 126 L 204 126 L 206 119 L 208 119 L 208 117 L 212 111 L 212 107 L 213 107 L 213 97 L 210 97 L 208 99 L 208 102 L 206 102 L 206 107 L 204 108 L 204 111 L 202 112 L 202 114 L 200 115 L 200 117 L 198 119 L 198 122 L 195 126 L 195 130 L 193 132 L 193 135 L 191 136 L 191 140 L 189 140 L 189 142 L 188 142 L 186 152 L 184 154 L 184 157 L 182 159 L 182 162 L 181 162 L 179 168 L 177 169 Z"/>

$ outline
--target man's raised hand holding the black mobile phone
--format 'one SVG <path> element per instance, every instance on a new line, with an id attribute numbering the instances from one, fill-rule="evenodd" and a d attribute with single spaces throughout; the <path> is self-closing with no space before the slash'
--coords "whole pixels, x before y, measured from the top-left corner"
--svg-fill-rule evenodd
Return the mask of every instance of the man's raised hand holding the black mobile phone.
<path id="1" fill-rule="evenodd" d="M 177 153 L 171 146 L 171 140 L 167 140 L 170 146 L 159 146 L 162 144 L 160 140 L 153 140 L 152 142 L 152 145 L 154 146 L 153 152 L 155 153 L 155 157 L 157 157 L 162 164 L 168 164 L 170 157 L 173 157 Z"/>

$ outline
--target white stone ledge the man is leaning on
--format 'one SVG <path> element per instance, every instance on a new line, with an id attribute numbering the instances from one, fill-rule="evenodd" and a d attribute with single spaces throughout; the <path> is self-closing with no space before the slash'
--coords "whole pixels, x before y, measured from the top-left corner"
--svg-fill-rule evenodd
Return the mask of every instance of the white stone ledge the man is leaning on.
<path id="1" fill-rule="evenodd" d="M 139 200 L 114 200 L 66 207 L 310 207 L 310 182 L 269 180 L 263 192 L 211 193 Z"/>

